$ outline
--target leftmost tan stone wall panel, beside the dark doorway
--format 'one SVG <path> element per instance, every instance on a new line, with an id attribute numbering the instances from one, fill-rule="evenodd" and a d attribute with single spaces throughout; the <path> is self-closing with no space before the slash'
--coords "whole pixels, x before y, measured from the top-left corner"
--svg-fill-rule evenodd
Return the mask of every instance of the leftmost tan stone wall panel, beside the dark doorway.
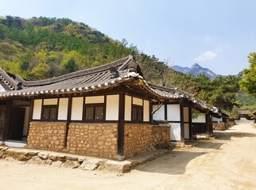
<path id="1" fill-rule="evenodd" d="M 66 128 L 65 122 L 33 121 L 29 127 L 27 147 L 42 150 L 64 150 Z"/>

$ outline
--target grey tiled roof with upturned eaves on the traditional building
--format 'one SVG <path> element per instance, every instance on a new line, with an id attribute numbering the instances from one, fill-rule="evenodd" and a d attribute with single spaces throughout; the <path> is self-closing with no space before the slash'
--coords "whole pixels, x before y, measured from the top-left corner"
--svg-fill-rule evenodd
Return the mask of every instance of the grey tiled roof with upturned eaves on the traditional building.
<path id="1" fill-rule="evenodd" d="M 200 110 L 218 112 L 218 109 L 216 111 L 214 108 L 208 108 L 204 101 L 196 99 L 191 93 L 177 88 L 149 84 L 143 79 L 142 74 L 138 72 L 139 69 L 132 70 L 130 65 L 138 67 L 132 55 L 100 67 L 80 70 L 71 74 L 64 74 L 60 77 L 39 81 L 26 81 L 18 75 L 8 74 L 5 70 L 0 69 L 0 79 L 2 79 L 5 86 L 8 86 L 7 89 L 10 89 L 0 92 L 0 98 L 37 97 L 41 94 L 83 93 L 109 88 L 110 86 L 116 86 L 122 82 L 136 79 L 141 84 L 140 87 L 143 88 L 144 93 L 151 94 L 153 97 L 157 97 L 158 100 L 179 101 L 186 99 Z M 118 76 L 111 77 L 111 68 L 115 68 L 118 71 Z M 21 83 L 22 89 L 17 90 L 17 85 Z"/>

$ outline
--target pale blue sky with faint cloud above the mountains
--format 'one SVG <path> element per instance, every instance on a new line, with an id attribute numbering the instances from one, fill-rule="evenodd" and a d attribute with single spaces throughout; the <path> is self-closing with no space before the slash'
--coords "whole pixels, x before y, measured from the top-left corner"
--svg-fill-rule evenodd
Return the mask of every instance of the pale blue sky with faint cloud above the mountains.
<path id="1" fill-rule="evenodd" d="M 68 17 L 170 65 L 238 74 L 256 51 L 254 0 L 0 0 L 0 15 Z"/>

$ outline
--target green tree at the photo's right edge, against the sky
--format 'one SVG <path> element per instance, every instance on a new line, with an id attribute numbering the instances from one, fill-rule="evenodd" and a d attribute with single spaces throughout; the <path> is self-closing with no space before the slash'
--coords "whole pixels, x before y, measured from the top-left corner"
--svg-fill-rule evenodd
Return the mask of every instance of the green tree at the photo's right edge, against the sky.
<path id="1" fill-rule="evenodd" d="M 249 69 L 244 69 L 242 72 L 242 81 L 240 87 L 246 93 L 250 93 L 256 97 L 256 52 L 250 53 L 248 56 L 250 64 Z"/>

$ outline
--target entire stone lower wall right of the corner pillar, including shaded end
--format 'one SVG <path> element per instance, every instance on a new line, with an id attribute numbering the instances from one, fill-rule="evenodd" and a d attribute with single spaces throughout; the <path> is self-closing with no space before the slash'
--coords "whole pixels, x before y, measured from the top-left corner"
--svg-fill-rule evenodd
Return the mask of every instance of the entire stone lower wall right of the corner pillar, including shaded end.
<path id="1" fill-rule="evenodd" d="M 167 148 L 169 142 L 169 127 L 157 127 L 151 124 L 125 124 L 124 155 L 126 158 L 155 148 Z"/>

